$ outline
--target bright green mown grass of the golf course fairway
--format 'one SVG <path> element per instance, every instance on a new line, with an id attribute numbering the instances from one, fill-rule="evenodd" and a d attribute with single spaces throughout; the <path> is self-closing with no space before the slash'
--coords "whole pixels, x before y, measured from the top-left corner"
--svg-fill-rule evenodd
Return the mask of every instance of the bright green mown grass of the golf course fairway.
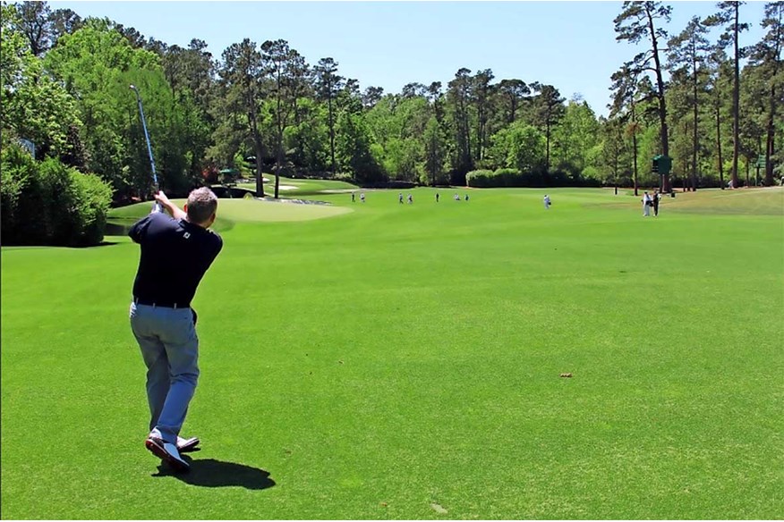
<path id="1" fill-rule="evenodd" d="M 220 200 L 187 476 L 143 445 L 138 246 L 2 248 L 2 518 L 784 513 L 784 190 L 325 187 Z"/>

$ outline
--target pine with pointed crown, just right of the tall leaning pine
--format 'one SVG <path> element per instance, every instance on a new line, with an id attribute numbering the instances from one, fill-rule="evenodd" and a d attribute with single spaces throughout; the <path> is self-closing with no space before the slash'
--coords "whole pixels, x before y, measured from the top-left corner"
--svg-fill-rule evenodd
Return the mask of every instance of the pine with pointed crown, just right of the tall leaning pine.
<path id="1" fill-rule="evenodd" d="M 700 21 L 699 17 L 692 17 L 686 29 L 677 37 L 669 40 L 669 66 L 673 70 L 687 70 L 690 75 L 692 87 L 691 98 L 688 99 L 692 108 L 692 164 L 691 164 L 691 186 L 693 190 L 697 188 L 697 166 L 699 154 L 699 68 L 703 65 L 704 56 L 711 51 L 711 45 L 705 34 L 708 29 Z"/>

